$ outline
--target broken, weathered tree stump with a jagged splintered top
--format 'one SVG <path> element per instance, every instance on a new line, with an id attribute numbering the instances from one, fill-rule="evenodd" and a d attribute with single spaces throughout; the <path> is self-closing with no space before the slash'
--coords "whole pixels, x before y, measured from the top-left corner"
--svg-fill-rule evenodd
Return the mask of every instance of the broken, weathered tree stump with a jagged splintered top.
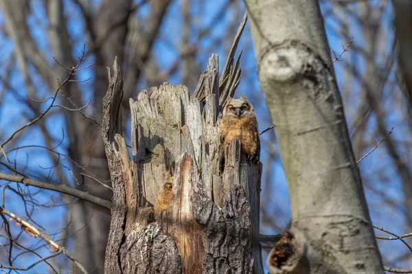
<path id="1" fill-rule="evenodd" d="M 262 165 L 237 140 L 219 165 L 218 120 L 239 83 L 233 53 L 245 19 L 220 81 L 213 55 L 192 96 L 163 84 L 130 99 L 132 159 L 120 129 L 115 60 L 103 103 L 114 192 L 106 273 L 263 273 L 256 240 Z"/>

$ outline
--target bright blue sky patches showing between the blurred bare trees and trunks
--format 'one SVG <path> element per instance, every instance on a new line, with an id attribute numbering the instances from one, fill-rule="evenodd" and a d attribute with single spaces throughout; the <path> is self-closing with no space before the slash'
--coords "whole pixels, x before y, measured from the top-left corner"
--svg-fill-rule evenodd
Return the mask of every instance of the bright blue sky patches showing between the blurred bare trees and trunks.
<path id="1" fill-rule="evenodd" d="M 194 4 L 191 12 L 198 14 L 196 21 L 193 22 L 194 25 L 209 25 L 211 18 L 214 18 L 214 14 L 216 14 L 218 7 L 223 5 L 222 2 L 223 1 L 212 0 L 206 1 L 206 3 L 201 6 Z M 71 1 L 65 1 L 65 3 L 67 3 L 67 5 L 65 6 L 65 14 L 69 18 L 69 20 L 67 21 L 67 26 L 69 28 L 69 33 L 73 38 L 73 57 L 77 57 L 78 55 L 80 55 L 80 50 L 82 49 L 83 45 L 87 44 L 88 38 L 84 36 L 84 24 L 82 23 L 82 19 L 80 18 L 80 14 L 78 13 L 77 8 Z M 157 64 L 159 68 L 163 70 L 167 69 L 170 64 L 175 62 L 176 58 L 179 58 L 179 52 L 177 51 L 177 49 L 179 49 L 180 40 L 173 40 L 173 38 L 179 37 L 179 34 L 181 32 L 182 22 L 180 16 L 180 3 L 181 2 L 179 1 L 174 1 L 172 3 L 170 9 L 168 10 L 168 14 L 166 15 L 167 17 L 165 18 L 165 21 L 162 25 L 162 31 L 160 34 L 161 39 L 157 40 L 154 45 Z M 47 25 L 47 22 L 43 20 L 43 18 L 45 18 L 45 12 L 42 8 L 38 8 L 41 6 L 38 5 L 38 1 L 33 1 L 32 6 L 35 7 L 34 14 L 27 18 L 27 22 L 32 26 L 32 36 L 36 40 L 40 49 L 45 52 L 49 52 L 49 45 L 47 43 L 47 39 L 45 39 L 46 33 L 45 30 L 42 29 L 43 25 Z M 243 7 L 241 6 L 240 8 L 242 9 Z M 328 8 L 328 5 L 322 4 L 321 8 L 322 10 L 325 10 Z M 147 13 L 148 10 L 146 8 L 142 8 L 139 11 L 139 14 L 143 16 Z M 178 15 L 174 16 L 174 14 Z M 388 49 L 391 45 L 391 39 L 393 39 L 393 32 L 390 26 L 392 16 L 391 14 L 391 7 L 390 5 L 387 5 L 387 11 L 382 17 L 382 29 L 383 31 L 387 32 L 387 46 L 383 45 L 382 47 L 388 47 Z M 240 12 L 240 16 L 238 17 L 239 22 L 242 17 L 242 12 Z M 207 58 L 209 58 L 209 55 L 212 52 L 219 54 L 220 68 L 222 69 L 225 65 L 225 54 L 227 53 L 227 47 L 228 45 L 231 45 L 233 38 L 226 37 L 221 42 L 216 42 L 216 39 L 225 36 L 227 25 L 231 22 L 232 18 L 233 12 L 226 12 L 221 18 L 219 18 L 218 22 L 214 24 L 215 29 L 211 32 L 211 36 L 208 36 L 207 39 L 203 40 L 199 44 L 199 52 L 204 53 L 197 58 L 197 61 L 199 62 L 199 65 L 201 67 L 201 71 L 205 70 L 207 65 Z M 3 18 L 1 14 L 0 25 L 3 25 Z M 346 45 L 348 42 L 346 38 L 342 38 L 340 35 L 336 34 L 336 29 L 339 29 L 339 27 L 339 22 L 335 21 L 332 16 L 325 18 L 325 29 L 328 35 L 330 48 L 338 54 L 341 53 L 341 45 Z M 191 29 L 190 39 L 194 41 L 196 39 L 196 36 L 197 33 L 195 31 L 195 28 Z M 350 36 L 354 36 L 354 45 L 358 45 L 359 47 L 363 46 L 363 34 L 355 23 L 351 25 Z M 244 50 L 242 54 L 242 68 L 244 73 L 242 76 L 242 82 L 238 88 L 238 91 L 236 92 L 236 97 L 240 97 L 242 94 L 245 94 L 249 99 L 251 99 L 258 115 L 260 130 L 262 130 L 271 125 L 271 119 L 266 109 L 266 105 L 264 104 L 264 99 L 256 75 L 255 55 L 253 53 L 253 47 L 251 43 L 249 24 L 244 31 L 238 48 Z M 12 50 L 12 42 L 8 40 L 8 38 L 5 38 L 0 34 L 0 56 L 8 57 L 10 56 Z M 211 52 L 206 52 L 207 50 L 211 50 Z M 47 57 L 47 60 L 49 60 L 49 62 L 53 62 L 52 55 L 45 54 L 45 56 Z M 379 58 L 379 56 L 377 58 Z M 91 64 L 93 61 L 93 56 L 90 56 L 86 60 L 86 64 Z M 352 51 L 343 55 L 343 62 L 355 63 L 360 72 L 365 70 L 364 58 L 361 55 L 352 53 Z M 334 63 L 336 79 L 341 88 L 343 88 L 343 86 L 345 85 L 345 78 L 343 77 L 343 73 L 345 73 L 345 66 L 343 62 Z M 14 64 L 14 66 L 16 66 L 16 64 Z M 0 66 L 0 75 L 4 75 L 4 73 L 5 66 Z M 93 88 L 91 84 L 94 79 L 93 71 L 85 70 L 82 72 L 80 77 L 82 79 L 91 77 L 90 82 L 80 84 L 83 91 L 82 99 L 83 101 L 87 101 L 92 92 L 91 88 Z M 393 78 L 393 74 L 389 75 L 389 77 Z M 174 75 L 172 75 L 172 77 L 170 77 L 169 81 L 171 84 L 179 84 L 181 81 L 181 75 L 179 75 L 179 73 L 175 73 Z M 34 82 L 35 84 L 37 84 L 37 82 L 39 82 L 39 79 L 37 77 L 34 77 Z M 34 114 L 25 107 L 24 103 L 21 103 L 21 98 L 25 99 L 25 96 L 27 95 L 22 76 L 19 73 L 12 73 L 9 84 L 10 86 L 12 86 L 12 89 L 9 89 L 5 94 L 3 100 L 0 101 L 1 136 L 8 136 L 8 134 L 12 133 L 15 129 L 19 128 L 28 120 L 34 118 Z M 148 88 L 145 85 L 145 82 L 140 82 L 139 90 Z M 351 85 L 354 90 L 355 96 L 343 96 L 345 110 L 347 110 L 347 120 L 349 121 L 350 125 L 351 119 L 354 115 L 352 109 L 354 109 L 354 107 L 359 103 L 360 97 L 358 96 L 358 93 L 361 88 L 360 84 L 356 81 L 351 82 Z M 45 90 L 41 87 L 41 84 L 36 85 L 36 99 L 46 99 L 50 96 L 49 90 Z M 0 81 L 0 90 L 3 88 L 3 82 Z M 387 101 L 385 101 L 384 107 L 391 108 L 391 105 L 393 105 L 397 99 L 398 98 L 396 97 L 389 98 Z M 49 101 L 43 103 L 43 108 L 46 108 L 48 104 Z M 403 114 L 404 113 L 402 112 L 402 109 L 394 109 L 393 112 L 391 112 L 391 114 L 386 118 L 388 125 L 395 127 L 391 138 L 395 138 L 396 140 L 411 140 L 411 132 L 409 131 L 409 128 L 404 125 L 405 123 L 403 123 L 402 120 Z M 371 119 L 371 121 L 367 125 L 371 139 L 373 139 L 374 136 L 375 123 L 376 119 Z M 57 144 L 58 142 L 60 142 L 62 138 L 62 131 L 66 131 L 62 115 L 49 115 L 46 120 L 46 126 L 50 129 L 50 132 L 52 132 L 54 143 Z M 129 130 L 127 130 L 127 132 L 129 132 Z M 267 186 L 267 189 L 264 188 L 262 190 L 262 193 L 271 193 L 270 199 L 266 199 L 266 197 L 262 196 L 262 207 L 265 207 L 268 212 L 271 212 L 273 214 L 273 216 L 269 217 L 277 219 L 277 225 L 279 225 L 281 228 L 284 228 L 288 224 L 288 221 L 290 221 L 290 207 L 286 180 L 282 170 L 282 162 L 279 158 L 275 132 L 267 132 L 266 134 L 264 134 L 264 136 L 262 136 L 262 138 L 266 142 L 273 142 L 275 144 L 273 147 L 262 149 L 261 160 L 264 163 L 262 182 L 270 182 L 270 184 Z M 372 141 L 373 140 L 371 140 L 371 145 Z M 376 141 L 379 140 L 376 139 Z M 45 145 L 45 142 L 43 138 L 41 138 L 38 127 L 34 126 L 30 127 L 30 129 L 25 130 L 24 136 L 19 139 L 18 145 Z M 66 153 L 66 147 L 67 141 L 63 140 L 62 145 L 57 150 L 61 153 Z M 6 151 L 11 148 L 12 147 L 7 147 Z M 404 148 L 400 147 L 399 149 L 401 152 L 403 152 L 402 149 Z M 269 164 L 265 164 L 266 159 L 268 158 L 268 151 L 270 150 L 273 150 L 273 153 L 275 153 L 275 155 L 277 156 L 275 157 L 275 161 Z M 405 153 L 407 153 L 407 151 L 405 151 Z M 52 162 L 49 160 L 47 153 L 45 153 L 43 149 L 38 148 L 21 149 L 19 151 L 16 151 L 16 153 L 10 153 L 9 158 L 13 161 L 16 160 L 16 162 L 20 164 L 20 167 L 27 164 L 27 173 L 34 175 L 34 177 L 48 175 L 49 171 L 47 169 L 41 169 L 40 166 L 42 166 L 43 168 L 52 166 Z M 359 155 L 356 155 L 356 158 L 360 158 Z M 376 190 L 385 192 L 388 197 L 399 201 L 404 199 L 401 188 L 402 186 L 400 184 L 400 178 L 396 174 L 396 169 L 394 169 L 393 164 L 391 164 L 390 160 L 391 159 L 387 155 L 385 147 L 379 147 L 378 149 L 376 149 L 376 151 L 374 151 L 374 153 L 369 155 L 367 158 L 365 158 L 365 160 L 363 160 L 363 162 L 361 162 L 361 172 L 364 178 L 365 176 L 367 176 L 369 181 L 376 182 L 376 184 L 374 184 L 374 188 L 376 188 Z M 387 164 L 385 164 L 385 162 L 387 162 Z M 67 161 L 65 162 L 65 164 L 70 165 Z M 384 183 L 382 182 L 382 179 L 374 178 L 374 175 L 376 175 L 376 166 L 385 166 L 385 174 L 390 178 L 389 182 Z M 0 167 L 0 169 L 1 171 L 4 171 L 3 168 Z M 41 175 L 39 173 L 41 173 Z M 69 177 L 68 171 L 67 175 Z M 2 186 L 4 186 L 5 182 L 1 182 L 1 184 Z M 15 187 L 15 184 L 11 184 L 11 186 Z M 37 190 L 36 188 L 29 189 L 33 192 Z M 16 214 L 24 216 L 25 209 L 23 208 L 21 199 L 10 192 L 10 190 L 7 191 L 7 195 L 5 195 L 6 208 L 14 211 Z M 405 230 L 405 227 L 407 227 L 407 225 L 404 223 L 404 208 L 402 208 L 402 206 L 398 206 L 397 208 L 383 206 L 382 198 L 380 197 L 380 195 L 377 195 L 375 192 L 369 190 L 368 188 L 365 188 L 365 191 L 367 195 L 367 201 L 369 203 L 369 209 L 371 211 L 371 218 L 375 225 L 385 227 L 386 229 L 389 229 L 390 231 L 398 234 L 408 232 Z M 55 199 L 59 196 L 55 192 L 42 191 L 41 193 L 36 195 L 36 199 L 38 199 L 40 203 L 45 203 L 49 201 L 50 195 L 53 195 Z M 45 227 L 45 229 L 47 229 L 49 232 L 56 232 L 58 228 L 62 227 L 62 224 L 65 221 L 64 212 L 64 207 L 53 209 L 34 208 L 34 219 L 38 221 L 38 223 L 43 225 L 43 227 Z M 267 223 L 262 224 L 262 233 L 272 234 L 278 232 L 279 231 L 274 229 L 274 227 L 271 227 L 271 225 L 267 225 Z M 27 238 L 27 236 L 23 237 Z M 30 242 L 35 242 L 35 240 L 30 239 Z M 43 243 L 41 244 L 43 245 Z M 387 258 L 388 260 L 390 258 L 396 258 L 398 250 L 404 250 L 405 248 L 400 242 L 395 241 L 384 242 L 380 240 L 379 245 L 381 247 L 381 251 L 385 254 L 385 258 Z M 43 255 L 48 254 L 47 247 L 43 247 L 43 249 L 41 249 L 39 253 Z M 29 258 L 19 260 L 20 263 L 17 265 L 23 266 L 29 261 L 34 260 L 36 260 L 36 258 L 29 256 Z M 392 264 L 391 266 L 395 265 Z M 400 267 L 400 265 L 398 266 Z M 45 264 L 36 266 L 37 273 L 44 273 L 45 270 Z"/>

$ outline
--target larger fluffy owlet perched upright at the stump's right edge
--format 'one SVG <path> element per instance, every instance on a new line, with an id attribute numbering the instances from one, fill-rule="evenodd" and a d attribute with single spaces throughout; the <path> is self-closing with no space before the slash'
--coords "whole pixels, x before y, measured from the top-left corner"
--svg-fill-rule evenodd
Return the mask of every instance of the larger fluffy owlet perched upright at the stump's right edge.
<path id="1" fill-rule="evenodd" d="M 250 158 L 259 160 L 258 120 L 246 96 L 242 95 L 240 99 L 229 99 L 223 110 L 219 127 L 224 146 L 229 145 L 236 138 L 240 141 L 244 153 L 247 153 Z"/>

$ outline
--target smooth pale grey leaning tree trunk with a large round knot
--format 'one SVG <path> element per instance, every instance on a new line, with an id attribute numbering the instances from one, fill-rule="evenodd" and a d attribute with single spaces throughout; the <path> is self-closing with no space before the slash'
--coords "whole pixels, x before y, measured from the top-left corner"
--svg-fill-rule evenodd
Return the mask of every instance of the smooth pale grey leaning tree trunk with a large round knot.
<path id="1" fill-rule="evenodd" d="M 318 2 L 245 3 L 306 269 L 383 273 Z"/>

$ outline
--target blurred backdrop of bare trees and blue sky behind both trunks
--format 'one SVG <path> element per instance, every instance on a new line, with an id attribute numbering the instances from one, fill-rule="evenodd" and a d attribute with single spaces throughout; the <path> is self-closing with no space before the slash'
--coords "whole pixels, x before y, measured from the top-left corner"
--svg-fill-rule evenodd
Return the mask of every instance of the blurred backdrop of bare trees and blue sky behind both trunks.
<path id="1" fill-rule="evenodd" d="M 396 234 L 411 232 L 412 210 L 404 199 L 409 197 L 411 182 L 411 123 L 396 60 L 391 2 L 320 1 L 320 7 L 330 48 L 336 53 L 332 52 L 333 66 L 356 160 L 394 127 L 390 138 L 359 164 L 372 223 Z M 111 66 L 118 56 L 124 74 L 125 115 L 130 113 L 128 98 L 137 97 L 139 90 L 150 86 L 168 81 L 185 84 L 192 91 L 211 53 L 220 55 L 223 67 L 245 8 L 238 1 L 116 1 L 113 5 L 113 1 L 105 0 L 3 0 L 0 9 L 0 55 L 4 60 L 0 66 L 0 160 L 1 178 L 5 180 L 2 206 L 41 225 L 42 231 L 67 247 L 73 258 L 98 273 L 103 268 L 110 216 L 102 207 L 104 202 L 94 206 L 89 201 L 94 196 L 111 198 L 98 125 L 108 86 L 106 66 Z M 336 58 L 343 51 L 341 45 L 346 47 L 352 36 L 349 51 Z M 67 71 L 52 56 L 70 71 L 82 55 L 84 44 L 87 59 L 81 68 L 95 64 L 76 71 L 71 79 L 91 79 L 68 82 L 62 93 L 57 78 L 61 84 Z M 271 119 L 256 81 L 251 46 L 247 27 L 239 45 L 243 50 L 243 76 L 237 96 L 245 93 L 251 99 L 262 130 L 271 125 Z M 343 62 L 338 61 L 342 59 Z M 51 99 L 40 101 L 54 97 L 56 91 L 54 105 L 76 111 L 53 107 L 42 119 L 8 140 L 16 129 L 47 110 Z M 87 106 L 82 108 L 84 105 Z M 78 112 L 80 108 L 83 114 Z M 128 125 L 130 118 L 123 118 L 124 125 Z M 130 143 L 130 128 L 125 129 L 126 143 Z M 290 222 L 286 181 L 275 140 L 273 131 L 262 135 L 264 234 L 283 232 Z M 7 177 L 14 173 L 47 183 L 38 184 L 43 188 L 62 183 L 71 187 L 59 186 L 63 193 L 76 188 L 93 197 L 76 192 L 77 196 L 83 195 L 85 201 L 81 201 L 39 191 L 14 182 L 20 179 Z M 0 253 L 5 266 L 27 267 L 52 254 L 43 241 L 30 238 L 13 226 L 9 235 L 8 229 L 8 225 L 3 226 L 1 243 L 5 248 Z M 14 240 L 13 247 L 9 236 Z M 411 251 L 400 240 L 379 240 L 378 245 L 385 265 L 408 266 Z M 41 272 L 53 271 L 52 267 L 62 272 L 71 264 L 65 256 L 58 255 L 33 267 Z"/>

